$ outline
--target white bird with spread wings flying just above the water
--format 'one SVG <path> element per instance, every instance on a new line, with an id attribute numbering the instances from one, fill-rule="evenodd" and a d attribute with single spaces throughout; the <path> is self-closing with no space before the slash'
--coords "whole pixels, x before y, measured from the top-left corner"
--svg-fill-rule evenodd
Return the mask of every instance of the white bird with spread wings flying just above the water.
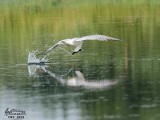
<path id="1" fill-rule="evenodd" d="M 72 55 L 73 55 L 73 54 L 81 51 L 83 41 L 85 41 L 85 40 L 99 40 L 99 41 L 113 40 L 113 41 L 117 41 L 119 39 L 116 39 L 116 38 L 113 38 L 113 37 L 108 37 L 108 36 L 105 36 L 105 35 L 89 35 L 89 36 L 84 36 L 84 37 L 80 37 L 80 38 L 64 39 L 64 40 L 61 40 L 61 41 L 57 42 L 52 47 L 50 47 L 48 50 L 46 50 L 44 52 L 44 54 L 47 54 L 48 52 L 55 49 L 57 46 L 59 46 L 61 44 L 65 44 L 65 45 L 75 46 L 75 49 L 72 53 Z"/>

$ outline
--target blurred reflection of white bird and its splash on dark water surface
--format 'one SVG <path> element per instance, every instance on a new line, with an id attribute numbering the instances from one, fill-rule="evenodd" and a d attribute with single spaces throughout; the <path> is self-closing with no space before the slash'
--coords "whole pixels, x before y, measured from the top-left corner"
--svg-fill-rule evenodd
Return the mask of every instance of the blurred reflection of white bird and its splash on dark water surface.
<path id="1" fill-rule="evenodd" d="M 28 65 L 28 72 L 29 72 L 30 77 L 36 78 L 42 75 L 43 78 L 45 79 L 49 75 L 52 78 L 56 79 L 62 85 L 84 87 L 87 89 L 108 88 L 118 83 L 118 81 L 115 81 L 115 80 L 94 80 L 94 81 L 86 80 L 83 73 L 80 72 L 79 70 L 74 71 L 76 76 L 69 77 L 68 74 L 70 73 L 72 69 L 70 69 L 67 74 L 61 76 L 61 75 L 55 74 L 52 71 L 46 69 L 46 67 L 48 66 L 37 65 L 37 64 Z M 64 76 L 66 77 L 64 78 Z M 49 81 L 47 79 L 46 81 L 49 84 Z"/>

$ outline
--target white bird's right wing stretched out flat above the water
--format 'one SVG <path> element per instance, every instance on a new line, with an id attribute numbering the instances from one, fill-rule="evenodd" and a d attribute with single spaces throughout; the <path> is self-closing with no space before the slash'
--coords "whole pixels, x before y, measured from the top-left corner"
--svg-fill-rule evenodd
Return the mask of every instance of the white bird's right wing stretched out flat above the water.
<path id="1" fill-rule="evenodd" d="M 119 40 L 119 39 L 105 36 L 105 35 L 88 35 L 88 36 L 84 36 L 84 37 L 76 39 L 76 41 L 84 41 L 84 40 L 108 41 L 108 40 Z"/>

